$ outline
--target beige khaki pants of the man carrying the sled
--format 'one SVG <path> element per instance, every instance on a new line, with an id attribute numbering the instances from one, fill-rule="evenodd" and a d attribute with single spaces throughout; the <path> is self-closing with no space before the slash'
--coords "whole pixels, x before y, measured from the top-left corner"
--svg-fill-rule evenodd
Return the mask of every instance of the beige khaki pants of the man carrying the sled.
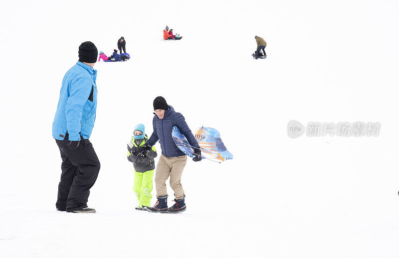
<path id="1" fill-rule="evenodd" d="M 158 161 L 157 170 L 155 171 L 155 188 L 157 189 L 157 197 L 167 195 L 166 180 L 171 176 L 169 182 L 177 200 L 184 197 L 184 190 L 180 179 L 182 178 L 183 169 L 187 163 L 187 156 L 166 157 L 161 155 Z"/>

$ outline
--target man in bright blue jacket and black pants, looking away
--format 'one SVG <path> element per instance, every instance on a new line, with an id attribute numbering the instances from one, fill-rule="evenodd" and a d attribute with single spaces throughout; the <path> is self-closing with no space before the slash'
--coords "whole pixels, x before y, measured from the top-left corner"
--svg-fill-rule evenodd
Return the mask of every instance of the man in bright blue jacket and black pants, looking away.
<path id="1" fill-rule="evenodd" d="M 97 48 L 90 42 L 79 46 L 79 61 L 66 72 L 55 113 L 52 135 L 61 152 L 61 180 L 58 184 L 57 210 L 94 213 L 87 207 L 100 161 L 89 141 L 96 119 Z"/>

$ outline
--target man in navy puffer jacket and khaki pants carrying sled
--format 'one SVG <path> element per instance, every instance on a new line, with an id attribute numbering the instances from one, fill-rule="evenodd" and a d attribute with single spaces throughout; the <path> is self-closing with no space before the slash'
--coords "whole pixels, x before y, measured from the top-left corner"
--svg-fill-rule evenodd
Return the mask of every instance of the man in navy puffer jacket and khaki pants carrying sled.
<path id="1" fill-rule="evenodd" d="M 190 145 L 194 147 L 194 161 L 201 160 L 201 150 L 196 138 L 191 132 L 182 114 L 175 112 L 166 100 L 159 96 L 154 100 L 155 116 L 153 119 L 154 131 L 147 141 L 147 148 L 151 148 L 158 140 L 161 144 L 162 155 L 155 172 L 155 187 L 158 201 L 154 207 L 146 207 L 149 212 L 179 213 L 186 210 L 185 194 L 180 182 L 183 169 L 187 162 L 186 154 L 179 149 L 172 138 L 172 128 L 177 126 L 186 136 Z M 168 208 L 168 193 L 166 180 L 170 176 L 170 185 L 175 192 L 175 204 Z"/>

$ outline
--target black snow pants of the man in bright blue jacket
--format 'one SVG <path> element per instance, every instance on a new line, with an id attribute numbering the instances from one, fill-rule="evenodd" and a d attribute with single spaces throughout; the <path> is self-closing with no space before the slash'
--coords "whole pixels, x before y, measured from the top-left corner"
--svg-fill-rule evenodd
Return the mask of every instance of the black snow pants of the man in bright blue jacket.
<path id="1" fill-rule="evenodd" d="M 55 206 L 73 211 L 87 207 L 90 188 L 97 180 L 100 161 L 89 139 L 81 139 L 76 149 L 66 145 L 68 140 L 55 140 L 61 152 L 61 180 Z"/>

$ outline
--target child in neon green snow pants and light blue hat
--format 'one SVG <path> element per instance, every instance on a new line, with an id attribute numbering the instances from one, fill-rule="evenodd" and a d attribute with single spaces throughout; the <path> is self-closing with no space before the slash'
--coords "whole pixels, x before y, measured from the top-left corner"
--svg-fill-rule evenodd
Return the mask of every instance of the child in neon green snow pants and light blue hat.
<path id="1" fill-rule="evenodd" d="M 128 160 L 134 166 L 133 191 L 136 193 L 139 206 L 136 210 L 144 210 L 150 206 L 153 190 L 153 176 L 155 169 L 154 158 L 157 156 L 155 146 L 151 149 L 144 148 L 148 137 L 145 134 L 143 124 L 138 124 L 134 128 L 134 135 L 128 143 Z"/>

